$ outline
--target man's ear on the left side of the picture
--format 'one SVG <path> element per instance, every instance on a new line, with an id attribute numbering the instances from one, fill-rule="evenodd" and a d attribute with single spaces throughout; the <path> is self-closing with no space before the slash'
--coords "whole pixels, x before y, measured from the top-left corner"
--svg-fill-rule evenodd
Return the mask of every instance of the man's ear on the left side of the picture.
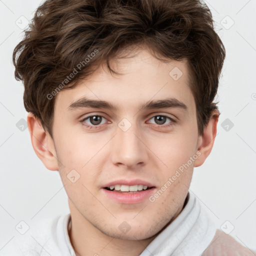
<path id="1" fill-rule="evenodd" d="M 58 170 L 53 139 L 31 112 L 27 115 L 27 123 L 34 152 L 47 169 Z"/>

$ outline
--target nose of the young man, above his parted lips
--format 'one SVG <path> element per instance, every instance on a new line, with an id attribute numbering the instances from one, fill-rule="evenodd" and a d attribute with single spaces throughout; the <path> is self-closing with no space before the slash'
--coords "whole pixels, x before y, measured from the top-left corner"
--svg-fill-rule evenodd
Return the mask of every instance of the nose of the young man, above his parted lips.
<path id="1" fill-rule="evenodd" d="M 112 141 L 111 160 L 115 165 L 137 168 L 148 160 L 145 138 L 135 124 L 124 131 L 117 126 Z"/>

